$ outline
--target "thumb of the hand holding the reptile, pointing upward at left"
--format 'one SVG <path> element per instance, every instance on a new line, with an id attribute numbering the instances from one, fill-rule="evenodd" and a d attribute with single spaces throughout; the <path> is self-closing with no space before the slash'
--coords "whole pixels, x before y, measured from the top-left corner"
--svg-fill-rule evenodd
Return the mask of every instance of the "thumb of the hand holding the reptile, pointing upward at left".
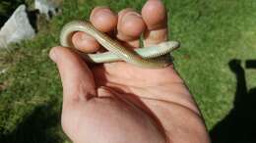
<path id="1" fill-rule="evenodd" d="M 57 64 L 60 73 L 64 107 L 96 96 L 94 75 L 78 54 L 68 48 L 54 47 L 49 56 Z"/>

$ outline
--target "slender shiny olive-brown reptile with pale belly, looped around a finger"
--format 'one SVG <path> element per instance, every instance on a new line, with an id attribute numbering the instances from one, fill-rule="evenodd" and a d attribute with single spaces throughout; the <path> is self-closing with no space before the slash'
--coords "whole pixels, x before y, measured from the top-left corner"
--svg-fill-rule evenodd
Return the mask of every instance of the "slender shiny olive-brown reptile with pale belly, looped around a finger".
<path id="1" fill-rule="evenodd" d="M 127 63 L 142 68 L 160 69 L 167 67 L 171 61 L 168 54 L 179 47 L 176 41 L 167 41 L 152 47 L 144 47 L 131 51 L 117 41 L 112 40 L 106 34 L 98 31 L 93 24 L 82 21 L 74 21 L 63 26 L 60 33 L 60 43 L 64 47 L 74 48 L 71 37 L 76 31 L 84 31 L 96 40 L 109 52 L 101 54 L 80 54 L 92 63 L 107 63 L 123 60 Z"/>

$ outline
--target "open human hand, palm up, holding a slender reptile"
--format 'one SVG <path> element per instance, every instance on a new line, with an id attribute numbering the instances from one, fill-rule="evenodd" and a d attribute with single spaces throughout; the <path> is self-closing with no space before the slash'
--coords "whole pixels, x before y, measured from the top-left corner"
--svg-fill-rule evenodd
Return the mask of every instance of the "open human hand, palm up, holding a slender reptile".
<path id="1" fill-rule="evenodd" d="M 167 18 L 160 0 L 148 0 L 142 16 L 131 9 L 118 13 L 97 7 L 91 14 L 97 29 L 126 47 L 138 48 L 144 32 L 149 46 L 167 39 Z M 113 31 L 117 28 L 117 33 Z M 94 52 L 99 45 L 77 32 L 73 43 Z M 62 126 L 76 143 L 210 142 L 197 106 L 173 66 L 141 69 L 124 62 L 87 66 L 74 52 L 50 52 L 63 84 Z"/>

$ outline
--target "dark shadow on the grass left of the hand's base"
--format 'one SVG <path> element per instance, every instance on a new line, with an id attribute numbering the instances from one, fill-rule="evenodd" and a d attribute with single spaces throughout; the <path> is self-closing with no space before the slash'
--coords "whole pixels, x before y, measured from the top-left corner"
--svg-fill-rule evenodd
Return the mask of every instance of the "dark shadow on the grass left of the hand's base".
<path id="1" fill-rule="evenodd" d="M 57 143 L 61 142 L 56 135 L 60 123 L 59 115 L 53 112 L 52 104 L 34 109 L 13 132 L 0 136 L 1 143 Z M 55 128 L 55 130 L 54 130 Z"/>

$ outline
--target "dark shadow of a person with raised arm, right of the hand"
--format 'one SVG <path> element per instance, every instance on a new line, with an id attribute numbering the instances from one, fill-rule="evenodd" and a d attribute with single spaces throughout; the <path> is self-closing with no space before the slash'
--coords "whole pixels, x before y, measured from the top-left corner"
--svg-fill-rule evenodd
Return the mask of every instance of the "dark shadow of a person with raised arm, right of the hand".
<path id="1" fill-rule="evenodd" d="M 236 76 L 233 109 L 211 130 L 213 143 L 256 143 L 256 88 L 247 90 L 244 69 L 239 60 L 228 63 Z M 256 69 L 256 61 L 246 61 L 246 68 Z"/>

